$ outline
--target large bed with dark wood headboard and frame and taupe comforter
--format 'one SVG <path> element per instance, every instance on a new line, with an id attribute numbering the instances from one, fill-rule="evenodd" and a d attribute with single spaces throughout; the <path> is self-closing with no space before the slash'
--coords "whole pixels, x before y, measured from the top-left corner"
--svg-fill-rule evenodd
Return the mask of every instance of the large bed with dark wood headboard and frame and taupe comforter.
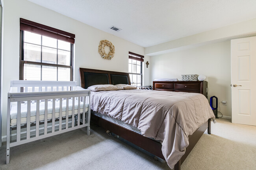
<path id="1" fill-rule="evenodd" d="M 129 74 L 124 72 L 80 68 L 80 79 L 81 87 L 85 89 L 98 84 L 130 84 Z M 143 103 L 144 107 L 142 104 L 138 106 L 140 103 Z M 196 110 L 195 115 L 187 119 L 183 112 L 190 111 L 184 111 L 182 105 L 192 110 L 191 113 L 193 109 Z M 207 128 L 210 134 L 211 120 L 214 119 L 205 96 L 185 92 L 156 90 L 92 92 L 91 109 L 93 122 L 166 160 L 170 168 L 175 170 L 180 169 L 180 165 Z M 121 117 L 117 112 L 122 113 Z M 113 121 L 113 118 L 117 120 Z M 197 128 L 193 124 L 196 124 Z"/>

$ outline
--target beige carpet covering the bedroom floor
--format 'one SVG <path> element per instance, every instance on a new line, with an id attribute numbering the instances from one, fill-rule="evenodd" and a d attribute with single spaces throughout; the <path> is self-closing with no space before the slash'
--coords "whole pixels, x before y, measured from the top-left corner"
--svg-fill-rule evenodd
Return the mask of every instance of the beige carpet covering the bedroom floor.
<path id="1" fill-rule="evenodd" d="M 227 119 L 212 123 L 212 134 L 203 134 L 182 164 L 182 170 L 253 170 L 256 169 L 256 127 L 232 124 Z M 155 170 L 169 169 L 125 143 L 92 126 L 85 129 L 10 149 L 6 165 L 6 145 L 0 148 L 1 170 L 84 169 L 84 170 Z"/>

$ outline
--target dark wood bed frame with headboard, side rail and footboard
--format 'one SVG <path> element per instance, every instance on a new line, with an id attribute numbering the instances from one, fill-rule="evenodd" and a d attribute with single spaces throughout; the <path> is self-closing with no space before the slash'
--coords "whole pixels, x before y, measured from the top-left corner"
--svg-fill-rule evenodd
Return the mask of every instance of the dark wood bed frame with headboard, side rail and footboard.
<path id="1" fill-rule="evenodd" d="M 87 89 L 87 87 L 96 84 L 130 84 L 129 73 L 125 72 L 113 72 L 95 69 L 80 68 L 80 81 L 81 87 Z M 93 112 L 93 111 L 91 111 Z M 97 125 L 103 127 L 106 130 L 113 132 L 114 134 L 126 139 L 127 141 L 143 148 L 144 150 L 154 154 L 157 157 L 165 160 L 161 151 L 161 143 L 154 141 L 148 137 L 144 137 L 141 134 L 137 134 L 124 127 L 111 123 L 98 116 L 91 115 L 91 121 Z M 198 140 L 208 129 L 208 134 L 211 134 L 211 120 L 208 119 L 202 126 L 200 126 L 192 135 L 189 136 L 189 146 L 186 148 L 185 154 L 174 166 L 174 170 L 180 170 L 181 164 L 185 161 L 191 150 L 197 144 Z"/>

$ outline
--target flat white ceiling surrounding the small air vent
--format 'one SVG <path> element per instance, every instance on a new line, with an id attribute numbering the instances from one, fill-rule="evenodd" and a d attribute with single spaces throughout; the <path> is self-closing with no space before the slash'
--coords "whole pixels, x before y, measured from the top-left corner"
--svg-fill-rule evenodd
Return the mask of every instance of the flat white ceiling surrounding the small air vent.
<path id="1" fill-rule="evenodd" d="M 143 47 L 256 18 L 256 0 L 29 1 Z"/>

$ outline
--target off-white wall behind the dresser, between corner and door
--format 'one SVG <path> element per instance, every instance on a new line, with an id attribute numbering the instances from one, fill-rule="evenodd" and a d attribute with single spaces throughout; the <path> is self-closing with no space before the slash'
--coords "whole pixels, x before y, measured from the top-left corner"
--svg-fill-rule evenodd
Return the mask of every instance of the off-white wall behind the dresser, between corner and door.
<path id="1" fill-rule="evenodd" d="M 156 78 L 178 78 L 182 74 L 204 74 L 208 81 L 208 99 L 217 96 L 219 111 L 231 116 L 230 41 L 204 45 L 184 51 L 151 56 L 150 81 Z"/>

